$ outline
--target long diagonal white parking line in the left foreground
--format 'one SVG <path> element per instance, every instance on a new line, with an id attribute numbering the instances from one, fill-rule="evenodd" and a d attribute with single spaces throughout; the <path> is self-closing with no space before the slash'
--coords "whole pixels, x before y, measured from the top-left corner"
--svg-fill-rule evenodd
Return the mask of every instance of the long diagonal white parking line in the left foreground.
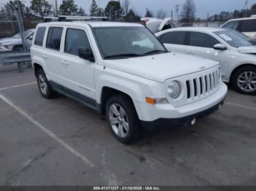
<path id="1" fill-rule="evenodd" d="M 75 149 L 73 149 L 72 147 L 69 146 L 69 144 L 66 144 L 64 141 L 62 141 L 61 139 L 59 139 L 58 136 L 56 136 L 53 132 L 51 132 L 50 130 L 48 130 L 47 128 L 45 128 L 42 124 L 40 124 L 39 122 L 37 122 L 37 120 L 34 120 L 32 117 L 29 116 L 29 114 L 27 114 L 26 112 L 23 112 L 22 109 L 20 109 L 18 106 L 16 106 L 15 104 L 13 104 L 9 99 L 7 99 L 4 95 L 0 94 L 0 98 L 8 105 L 12 106 L 13 109 L 15 109 L 17 112 L 19 112 L 21 115 L 23 115 L 23 117 L 26 117 L 27 120 L 29 120 L 30 122 L 32 122 L 34 125 L 37 126 L 37 128 L 39 128 L 40 130 L 42 130 L 44 133 L 46 133 L 48 136 L 50 136 L 50 138 L 52 138 L 53 140 L 57 141 L 59 144 L 61 144 L 63 147 L 65 147 L 67 150 L 69 150 L 69 152 L 71 152 L 73 155 L 75 155 L 76 157 L 80 158 L 80 160 L 83 160 L 84 163 L 86 163 L 86 165 L 89 165 L 89 167 L 94 167 L 94 164 L 91 163 L 91 161 L 89 159 L 87 159 L 85 156 L 83 156 L 82 154 L 80 154 L 80 152 L 76 151 Z"/>

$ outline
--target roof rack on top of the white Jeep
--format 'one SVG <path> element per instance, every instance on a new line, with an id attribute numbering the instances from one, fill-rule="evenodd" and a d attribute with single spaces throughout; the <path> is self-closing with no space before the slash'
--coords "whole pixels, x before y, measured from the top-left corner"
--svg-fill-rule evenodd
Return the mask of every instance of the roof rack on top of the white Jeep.
<path id="1" fill-rule="evenodd" d="M 51 21 L 73 21 L 73 20 L 108 20 L 108 17 L 87 17 L 87 16 L 70 16 L 58 15 L 57 17 L 44 17 L 45 22 Z"/>

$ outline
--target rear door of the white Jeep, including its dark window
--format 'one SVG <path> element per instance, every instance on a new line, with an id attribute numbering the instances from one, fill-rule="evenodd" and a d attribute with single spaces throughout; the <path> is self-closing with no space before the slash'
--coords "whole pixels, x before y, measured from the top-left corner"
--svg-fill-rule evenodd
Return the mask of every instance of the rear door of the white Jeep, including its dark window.
<path id="1" fill-rule="evenodd" d="M 49 27 L 48 36 L 45 44 L 45 52 L 42 52 L 42 57 L 47 66 L 47 75 L 50 82 L 56 82 L 59 85 L 64 83 L 61 77 L 61 38 L 62 27 Z"/>

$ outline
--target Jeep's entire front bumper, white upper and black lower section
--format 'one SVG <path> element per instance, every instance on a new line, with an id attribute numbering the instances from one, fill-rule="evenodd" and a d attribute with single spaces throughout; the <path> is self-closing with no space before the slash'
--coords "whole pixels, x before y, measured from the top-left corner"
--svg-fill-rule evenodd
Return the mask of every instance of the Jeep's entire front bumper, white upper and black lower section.
<path id="1" fill-rule="evenodd" d="M 145 128 L 163 125 L 187 125 L 195 117 L 202 117 L 205 114 L 211 114 L 222 104 L 227 95 L 227 85 L 223 82 L 219 84 L 218 90 L 200 101 L 195 101 L 184 106 L 172 106 L 171 104 L 151 105 L 145 103 L 136 103 L 135 108 L 138 117 Z M 163 122 L 164 121 L 164 122 Z"/>

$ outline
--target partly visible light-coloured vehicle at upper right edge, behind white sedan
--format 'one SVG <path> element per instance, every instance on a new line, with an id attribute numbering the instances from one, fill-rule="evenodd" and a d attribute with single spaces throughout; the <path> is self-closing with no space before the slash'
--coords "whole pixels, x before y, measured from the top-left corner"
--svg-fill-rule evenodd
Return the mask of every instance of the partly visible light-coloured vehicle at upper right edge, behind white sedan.
<path id="1" fill-rule="evenodd" d="M 250 39 L 256 39 L 256 17 L 246 17 L 228 20 L 221 28 L 230 28 L 239 31 Z"/>

